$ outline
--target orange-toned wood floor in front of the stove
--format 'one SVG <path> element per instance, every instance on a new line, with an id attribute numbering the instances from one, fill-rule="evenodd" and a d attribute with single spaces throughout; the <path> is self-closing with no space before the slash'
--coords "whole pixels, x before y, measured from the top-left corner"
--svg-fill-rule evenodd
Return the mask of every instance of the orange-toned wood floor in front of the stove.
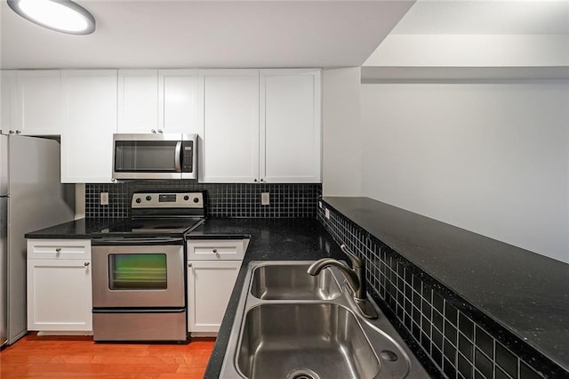
<path id="1" fill-rule="evenodd" d="M 92 336 L 34 333 L 0 352 L 0 377 L 201 379 L 214 342 L 93 343 Z"/>

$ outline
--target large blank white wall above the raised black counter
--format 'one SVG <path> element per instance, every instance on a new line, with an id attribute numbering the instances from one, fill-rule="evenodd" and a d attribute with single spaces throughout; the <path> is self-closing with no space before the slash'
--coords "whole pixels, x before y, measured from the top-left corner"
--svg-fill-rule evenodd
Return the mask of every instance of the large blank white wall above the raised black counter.
<path id="1" fill-rule="evenodd" d="M 361 86 L 363 196 L 569 262 L 569 81 Z"/>

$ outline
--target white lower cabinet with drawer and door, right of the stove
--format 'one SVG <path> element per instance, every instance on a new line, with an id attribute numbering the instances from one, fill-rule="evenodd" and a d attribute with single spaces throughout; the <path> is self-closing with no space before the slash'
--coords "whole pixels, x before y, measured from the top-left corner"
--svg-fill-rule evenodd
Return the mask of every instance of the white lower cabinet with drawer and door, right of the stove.
<path id="1" fill-rule="evenodd" d="M 188 241 L 188 330 L 192 335 L 219 331 L 248 242 Z"/>

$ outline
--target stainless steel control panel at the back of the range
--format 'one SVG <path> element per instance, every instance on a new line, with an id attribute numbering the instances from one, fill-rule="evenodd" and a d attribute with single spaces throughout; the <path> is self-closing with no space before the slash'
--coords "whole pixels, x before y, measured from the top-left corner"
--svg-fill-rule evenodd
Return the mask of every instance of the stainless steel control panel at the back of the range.
<path id="1" fill-rule="evenodd" d="M 137 192 L 132 194 L 132 208 L 203 208 L 203 192 Z"/>

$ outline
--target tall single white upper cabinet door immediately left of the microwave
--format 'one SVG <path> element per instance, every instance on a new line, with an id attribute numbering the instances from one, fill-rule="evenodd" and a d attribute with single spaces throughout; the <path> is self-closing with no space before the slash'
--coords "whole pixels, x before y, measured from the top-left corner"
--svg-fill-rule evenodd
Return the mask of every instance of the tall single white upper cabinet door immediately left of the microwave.
<path id="1" fill-rule="evenodd" d="M 61 181 L 110 182 L 116 133 L 116 70 L 65 70 Z"/>

